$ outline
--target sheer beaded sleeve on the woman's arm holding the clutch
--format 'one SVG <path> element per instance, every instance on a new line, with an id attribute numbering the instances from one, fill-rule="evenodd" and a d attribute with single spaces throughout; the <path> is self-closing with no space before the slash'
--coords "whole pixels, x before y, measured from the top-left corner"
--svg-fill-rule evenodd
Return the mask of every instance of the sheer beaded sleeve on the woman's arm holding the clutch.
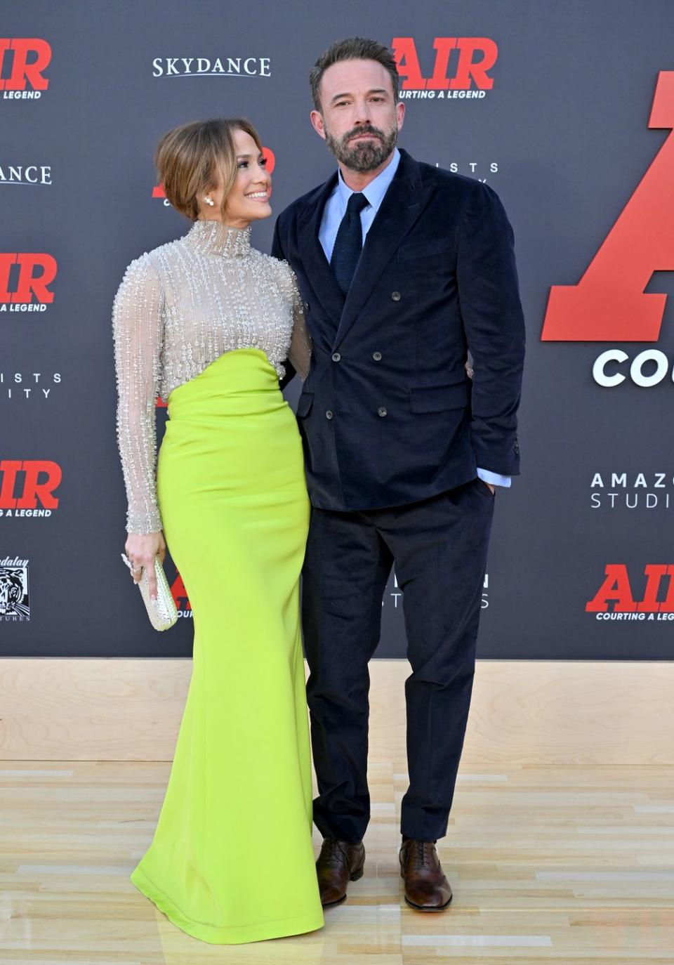
<path id="1" fill-rule="evenodd" d="M 145 256 L 126 269 L 113 308 L 117 436 L 128 533 L 157 533 L 162 528 L 155 477 L 155 403 L 163 328 L 162 286 Z"/>

